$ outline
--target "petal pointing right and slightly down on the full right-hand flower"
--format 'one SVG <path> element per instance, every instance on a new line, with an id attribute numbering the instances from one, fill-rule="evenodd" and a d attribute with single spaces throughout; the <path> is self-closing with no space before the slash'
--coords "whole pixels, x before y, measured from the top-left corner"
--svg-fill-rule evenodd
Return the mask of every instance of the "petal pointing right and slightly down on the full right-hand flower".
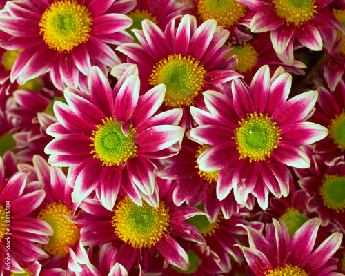
<path id="1" fill-rule="evenodd" d="M 309 168 L 311 160 L 306 153 L 288 141 L 279 141 L 272 151 L 272 157 L 282 164 L 295 168 Z"/>

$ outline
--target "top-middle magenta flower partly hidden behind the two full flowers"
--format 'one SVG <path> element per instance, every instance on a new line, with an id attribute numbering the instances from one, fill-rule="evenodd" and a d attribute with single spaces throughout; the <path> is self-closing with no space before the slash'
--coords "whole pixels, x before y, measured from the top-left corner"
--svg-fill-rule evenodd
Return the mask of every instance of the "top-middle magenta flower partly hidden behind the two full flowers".
<path id="1" fill-rule="evenodd" d="M 172 19 L 163 32 L 155 23 L 144 20 L 143 30 L 133 30 L 137 43 L 126 43 L 117 50 L 136 63 L 144 91 L 160 83 L 166 85 L 165 106 L 168 108 L 193 105 L 197 95 L 209 87 L 241 77 L 231 70 L 235 58 L 223 59 L 230 50 L 223 48 L 230 32 L 217 27 L 210 19 L 197 27 L 195 17 L 185 15 L 175 28 Z M 128 64 L 112 69 L 120 77 Z M 215 88 L 216 89 L 216 88 Z"/>

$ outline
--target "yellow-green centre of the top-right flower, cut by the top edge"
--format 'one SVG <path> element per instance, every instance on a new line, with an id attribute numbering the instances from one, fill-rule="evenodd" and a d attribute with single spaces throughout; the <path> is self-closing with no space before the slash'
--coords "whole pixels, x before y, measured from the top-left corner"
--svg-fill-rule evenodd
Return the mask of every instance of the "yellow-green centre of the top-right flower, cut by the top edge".
<path id="1" fill-rule="evenodd" d="M 315 0 L 273 0 L 277 15 L 285 18 L 286 23 L 295 23 L 301 26 L 305 21 L 311 20 L 315 10 Z"/>

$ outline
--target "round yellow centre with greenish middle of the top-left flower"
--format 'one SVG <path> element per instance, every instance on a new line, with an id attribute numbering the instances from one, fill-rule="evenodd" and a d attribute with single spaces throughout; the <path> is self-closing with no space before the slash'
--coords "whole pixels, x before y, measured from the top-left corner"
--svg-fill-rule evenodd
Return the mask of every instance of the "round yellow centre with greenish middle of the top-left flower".
<path id="1" fill-rule="evenodd" d="M 56 1 L 43 12 L 40 34 L 52 50 L 70 52 L 88 41 L 92 14 L 75 0 Z"/>

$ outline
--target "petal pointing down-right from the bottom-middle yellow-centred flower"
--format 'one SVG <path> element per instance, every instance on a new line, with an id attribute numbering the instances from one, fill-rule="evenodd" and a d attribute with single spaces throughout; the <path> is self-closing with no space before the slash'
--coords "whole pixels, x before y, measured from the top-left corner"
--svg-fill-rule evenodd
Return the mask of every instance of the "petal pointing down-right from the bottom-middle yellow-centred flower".
<path id="1" fill-rule="evenodd" d="M 155 247 L 167 262 L 182 270 L 187 270 L 189 266 L 188 255 L 170 235 L 164 234 Z"/>

